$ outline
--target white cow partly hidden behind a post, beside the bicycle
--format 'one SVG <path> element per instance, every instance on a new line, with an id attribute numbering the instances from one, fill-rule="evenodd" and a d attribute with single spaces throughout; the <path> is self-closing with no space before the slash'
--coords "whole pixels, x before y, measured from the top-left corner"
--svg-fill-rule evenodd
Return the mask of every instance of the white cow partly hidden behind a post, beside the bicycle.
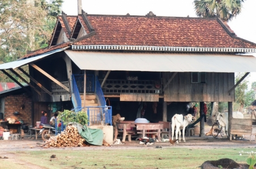
<path id="1" fill-rule="evenodd" d="M 225 127 L 225 133 L 228 136 L 228 112 L 220 113 L 217 112 L 216 115 L 216 122 L 220 123 L 220 126 Z M 241 112 L 233 112 L 233 118 L 244 118 L 244 114 Z"/>

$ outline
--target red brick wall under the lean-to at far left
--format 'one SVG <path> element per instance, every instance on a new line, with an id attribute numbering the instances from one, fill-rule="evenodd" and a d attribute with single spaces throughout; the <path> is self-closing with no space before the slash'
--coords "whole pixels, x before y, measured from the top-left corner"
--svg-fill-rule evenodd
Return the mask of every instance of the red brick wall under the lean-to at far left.
<path id="1" fill-rule="evenodd" d="M 24 109 L 21 109 L 24 104 Z M 23 119 L 28 126 L 32 124 L 32 99 L 24 95 L 10 95 L 5 97 L 5 118 Z M 14 115 L 14 112 L 20 112 L 20 115 Z"/>

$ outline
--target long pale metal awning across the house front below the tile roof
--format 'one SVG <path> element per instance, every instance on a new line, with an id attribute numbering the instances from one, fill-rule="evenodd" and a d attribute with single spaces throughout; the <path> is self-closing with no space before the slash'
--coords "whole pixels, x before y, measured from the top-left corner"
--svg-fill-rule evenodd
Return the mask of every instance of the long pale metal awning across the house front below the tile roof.
<path id="1" fill-rule="evenodd" d="M 256 72 L 256 57 L 245 55 L 65 52 L 82 70 Z"/>

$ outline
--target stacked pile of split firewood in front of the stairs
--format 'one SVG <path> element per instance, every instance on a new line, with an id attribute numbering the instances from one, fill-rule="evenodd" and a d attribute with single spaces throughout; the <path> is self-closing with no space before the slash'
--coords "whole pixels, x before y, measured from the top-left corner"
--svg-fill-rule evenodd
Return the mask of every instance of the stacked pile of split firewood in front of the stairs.
<path id="1" fill-rule="evenodd" d="M 57 136 L 51 136 L 44 145 L 48 148 L 89 146 L 86 140 L 78 133 L 78 129 L 72 125 L 67 126 L 65 132 L 61 132 Z"/>

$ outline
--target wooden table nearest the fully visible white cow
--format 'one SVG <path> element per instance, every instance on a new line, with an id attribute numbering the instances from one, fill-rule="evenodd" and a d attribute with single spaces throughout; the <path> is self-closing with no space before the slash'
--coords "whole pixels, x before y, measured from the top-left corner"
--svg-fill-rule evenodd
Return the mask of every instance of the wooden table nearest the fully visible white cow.
<path id="1" fill-rule="evenodd" d="M 159 142 L 161 142 L 161 130 L 163 130 L 163 123 L 131 123 L 136 126 L 137 134 L 142 134 L 142 138 L 146 134 L 152 134 L 153 137 L 157 136 Z M 149 130 L 149 131 L 147 131 Z"/>

